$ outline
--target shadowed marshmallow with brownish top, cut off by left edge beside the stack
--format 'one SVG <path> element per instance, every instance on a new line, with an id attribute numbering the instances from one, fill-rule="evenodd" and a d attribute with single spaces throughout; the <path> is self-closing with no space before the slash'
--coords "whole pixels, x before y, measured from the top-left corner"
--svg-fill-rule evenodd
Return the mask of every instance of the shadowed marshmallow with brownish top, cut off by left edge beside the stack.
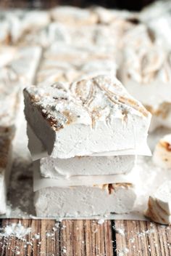
<path id="1" fill-rule="evenodd" d="M 13 127 L 0 127 L 0 215 L 7 209 L 7 185 L 12 167 Z"/>

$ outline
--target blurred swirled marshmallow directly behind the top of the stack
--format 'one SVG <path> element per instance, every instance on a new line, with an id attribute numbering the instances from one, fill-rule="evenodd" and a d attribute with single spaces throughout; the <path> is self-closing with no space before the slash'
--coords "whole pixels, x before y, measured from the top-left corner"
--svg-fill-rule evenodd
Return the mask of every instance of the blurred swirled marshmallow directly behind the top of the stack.
<path id="1" fill-rule="evenodd" d="M 91 79 L 101 74 L 116 75 L 117 65 L 113 60 L 89 60 L 88 62 L 66 63 L 43 60 L 36 76 L 36 84 L 54 84 L 57 81 L 78 81 Z"/>

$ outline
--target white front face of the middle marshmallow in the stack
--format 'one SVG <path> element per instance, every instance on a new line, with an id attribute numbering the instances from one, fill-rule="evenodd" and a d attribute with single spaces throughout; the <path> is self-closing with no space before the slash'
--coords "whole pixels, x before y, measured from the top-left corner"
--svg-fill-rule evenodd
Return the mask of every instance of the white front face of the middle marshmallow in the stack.
<path id="1" fill-rule="evenodd" d="M 75 156 L 71 159 L 40 160 L 43 177 L 70 177 L 75 175 L 114 175 L 133 169 L 135 156 Z"/>

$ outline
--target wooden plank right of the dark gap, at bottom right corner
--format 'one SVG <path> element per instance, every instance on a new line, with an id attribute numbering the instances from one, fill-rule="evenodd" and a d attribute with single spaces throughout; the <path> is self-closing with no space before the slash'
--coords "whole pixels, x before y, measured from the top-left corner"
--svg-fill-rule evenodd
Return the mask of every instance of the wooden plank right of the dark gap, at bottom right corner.
<path id="1" fill-rule="evenodd" d="M 115 222 L 117 252 L 127 256 L 170 256 L 171 228 L 150 222 L 120 220 Z M 128 250 L 127 250 L 128 249 Z"/>

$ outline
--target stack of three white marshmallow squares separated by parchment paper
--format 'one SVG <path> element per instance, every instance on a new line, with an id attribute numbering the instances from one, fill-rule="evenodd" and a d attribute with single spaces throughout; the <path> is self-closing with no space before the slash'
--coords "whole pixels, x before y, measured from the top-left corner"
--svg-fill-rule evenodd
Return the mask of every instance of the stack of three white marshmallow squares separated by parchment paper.
<path id="1" fill-rule="evenodd" d="M 135 156 L 149 154 L 146 108 L 111 74 L 27 87 L 24 96 L 36 214 L 131 212 Z"/>

